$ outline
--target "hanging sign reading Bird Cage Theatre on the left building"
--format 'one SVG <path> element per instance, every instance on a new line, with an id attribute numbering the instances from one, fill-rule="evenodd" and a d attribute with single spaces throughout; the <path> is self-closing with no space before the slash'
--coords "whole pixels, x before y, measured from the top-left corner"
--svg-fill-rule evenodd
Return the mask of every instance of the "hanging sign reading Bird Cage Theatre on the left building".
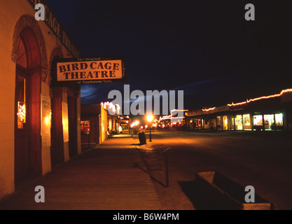
<path id="1" fill-rule="evenodd" d="M 125 64 L 116 58 L 57 59 L 57 83 L 117 83 L 125 81 Z"/>

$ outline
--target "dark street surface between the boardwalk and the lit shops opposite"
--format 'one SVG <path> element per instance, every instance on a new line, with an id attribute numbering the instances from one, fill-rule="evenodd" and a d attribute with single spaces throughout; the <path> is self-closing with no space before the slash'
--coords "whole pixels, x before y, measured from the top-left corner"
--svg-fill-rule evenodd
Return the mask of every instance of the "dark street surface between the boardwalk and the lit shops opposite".
<path id="1" fill-rule="evenodd" d="M 292 209 L 291 133 L 153 131 L 152 142 L 139 146 L 153 183 L 168 209 L 202 209 L 193 181 L 197 172 L 217 171 L 256 194 Z M 165 156 L 168 152 L 169 187 L 165 186 Z M 177 195 L 181 195 L 178 197 Z M 187 197 L 187 199 L 186 199 Z M 206 208 L 206 207 L 205 207 Z"/>

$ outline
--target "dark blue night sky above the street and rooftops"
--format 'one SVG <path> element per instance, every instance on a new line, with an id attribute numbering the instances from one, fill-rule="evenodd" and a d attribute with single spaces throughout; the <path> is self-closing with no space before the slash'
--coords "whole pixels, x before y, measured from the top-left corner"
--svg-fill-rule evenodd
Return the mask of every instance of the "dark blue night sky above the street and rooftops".
<path id="1" fill-rule="evenodd" d="M 81 87 L 184 90 L 185 109 L 223 106 L 292 87 L 292 1 L 48 0 L 82 57 L 123 56 L 126 83 Z M 246 21 L 246 3 L 256 20 Z"/>

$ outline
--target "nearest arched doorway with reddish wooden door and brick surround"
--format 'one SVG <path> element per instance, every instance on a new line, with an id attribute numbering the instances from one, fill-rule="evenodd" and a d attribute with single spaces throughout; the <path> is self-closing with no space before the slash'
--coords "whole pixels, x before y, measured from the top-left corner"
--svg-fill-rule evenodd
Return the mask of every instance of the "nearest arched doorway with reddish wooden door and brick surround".
<path id="1" fill-rule="evenodd" d="M 40 47 L 41 46 L 41 47 Z M 42 174 L 41 76 L 46 52 L 39 25 L 23 15 L 15 26 L 12 59 L 15 69 L 15 187 Z"/>

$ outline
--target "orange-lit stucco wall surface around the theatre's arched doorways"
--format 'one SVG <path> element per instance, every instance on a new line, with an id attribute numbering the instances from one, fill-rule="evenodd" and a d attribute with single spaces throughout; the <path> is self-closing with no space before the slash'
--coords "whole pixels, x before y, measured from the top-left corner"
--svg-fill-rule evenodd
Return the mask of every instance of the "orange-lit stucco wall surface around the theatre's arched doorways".
<path id="1" fill-rule="evenodd" d="M 12 59 L 13 34 L 15 25 L 22 15 L 34 17 L 36 11 L 27 0 L 1 1 L 0 3 L 0 200 L 13 193 L 14 183 L 14 123 L 15 123 L 15 62 Z M 38 21 L 43 43 L 46 49 L 43 58 L 48 64 L 53 49 L 57 47 L 55 36 L 49 35 L 50 29 L 43 21 Z M 44 48 L 43 48 L 44 49 Z M 66 48 L 62 47 L 65 57 L 71 57 Z M 41 77 L 40 95 L 50 96 L 49 67 L 44 68 Z M 67 99 L 67 96 L 64 96 Z M 78 98 L 80 102 L 80 96 Z M 78 118 L 80 119 L 80 109 Z M 78 119 L 76 118 L 76 119 Z M 80 122 L 79 122 L 80 124 Z M 80 130 L 80 127 L 77 127 Z M 80 132 L 79 132 L 80 136 Z M 81 153 L 81 142 L 78 141 L 78 153 Z M 68 147 L 64 144 L 65 160 L 68 160 Z M 50 172 L 50 147 L 41 149 L 42 174 Z"/>

